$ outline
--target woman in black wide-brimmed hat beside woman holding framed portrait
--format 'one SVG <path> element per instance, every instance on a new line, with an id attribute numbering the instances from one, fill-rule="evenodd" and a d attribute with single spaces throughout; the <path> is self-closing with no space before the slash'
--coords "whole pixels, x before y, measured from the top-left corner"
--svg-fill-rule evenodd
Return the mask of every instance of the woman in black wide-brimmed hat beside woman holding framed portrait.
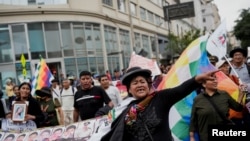
<path id="1" fill-rule="evenodd" d="M 43 87 L 40 90 L 36 90 L 36 94 L 41 98 L 41 110 L 45 114 L 45 121 L 42 122 L 42 126 L 63 125 L 64 120 L 61 104 L 57 98 L 52 98 L 51 89 L 49 87 Z"/>

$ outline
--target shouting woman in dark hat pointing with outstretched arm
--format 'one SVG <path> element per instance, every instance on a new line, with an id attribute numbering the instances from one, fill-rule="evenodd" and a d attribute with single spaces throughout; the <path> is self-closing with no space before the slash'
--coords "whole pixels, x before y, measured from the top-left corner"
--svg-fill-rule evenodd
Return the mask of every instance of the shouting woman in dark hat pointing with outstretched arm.
<path id="1" fill-rule="evenodd" d="M 214 79 L 212 72 L 197 75 L 183 84 L 160 91 L 152 87 L 151 71 L 132 67 L 122 77 L 132 101 L 111 125 L 111 131 L 101 141 L 172 140 L 169 128 L 169 110 L 179 100 L 190 94 L 200 83 Z"/>

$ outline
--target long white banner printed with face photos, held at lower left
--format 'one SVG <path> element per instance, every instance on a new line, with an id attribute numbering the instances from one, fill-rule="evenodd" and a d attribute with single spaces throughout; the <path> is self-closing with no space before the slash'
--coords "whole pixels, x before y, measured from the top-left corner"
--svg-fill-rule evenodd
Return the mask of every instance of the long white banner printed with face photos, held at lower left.
<path id="1" fill-rule="evenodd" d="M 17 140 L 75 140 L 98 141 L 109 130 L 112 115 L 84 120 L 67 126 L 36 128 L 33 121 L 14 123 L 9 119 L 2 120 L 0 138 Z"/>

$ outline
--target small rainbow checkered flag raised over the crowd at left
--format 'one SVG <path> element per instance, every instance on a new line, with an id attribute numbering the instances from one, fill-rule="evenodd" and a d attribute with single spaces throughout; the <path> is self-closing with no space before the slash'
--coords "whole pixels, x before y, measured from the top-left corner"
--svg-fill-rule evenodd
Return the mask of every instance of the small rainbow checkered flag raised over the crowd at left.
<path id="1" fill-rule="evenodd" d="M 50 87 L 51 81 L 54 79 L 50 69 L 48 68 L 45 60 L 40 57 L 40 62 L 37 64 L 34 77 L 32 79 L 31 94 L 35 96 L 35 91 L 42 87 Z"/>

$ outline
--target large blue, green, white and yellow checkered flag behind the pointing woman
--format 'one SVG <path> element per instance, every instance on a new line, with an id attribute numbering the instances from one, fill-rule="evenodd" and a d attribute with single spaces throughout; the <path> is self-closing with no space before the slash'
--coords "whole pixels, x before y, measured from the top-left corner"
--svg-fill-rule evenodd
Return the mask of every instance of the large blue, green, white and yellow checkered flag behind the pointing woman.
<path id="1" fill-rule="evenodd" d="M 175 87 L 193 76 L 214 70 L 210 64 L 206 42 L 208 35 L 194 40 L 181 54 L 176 63 L 164 76 L 163 81 L 158 86 L 158 90 Z M 193 99 L 196 92 L 192 92 L 187 97 L 176 103 L 170 110 L 169 124 L 174 140 L 189 140 L 189 123 Z"/>

